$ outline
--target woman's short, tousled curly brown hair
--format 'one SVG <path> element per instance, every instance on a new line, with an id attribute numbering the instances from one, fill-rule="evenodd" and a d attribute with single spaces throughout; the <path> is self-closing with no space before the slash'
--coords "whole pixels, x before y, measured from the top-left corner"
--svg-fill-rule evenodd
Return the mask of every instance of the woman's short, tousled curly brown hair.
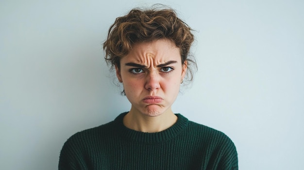
<path id="1" fill-rule="evenodd" d="M 195 59 L 189 55 L 194 41 L 191 31 L 193 30 L 177 17 L 173 9 L 134 8 L 127 15 L 116 18 L 110 27 L 103 43 L 104 58 L 112 69 L 115 66 L 120 69 L 120 59 L 130 53 L 135 43 L 169 39 L 180 49 L 182 63 L 187 61 L 186 77 L 191 81 L 193 68 L 189 66 L 197 68 Z"/>

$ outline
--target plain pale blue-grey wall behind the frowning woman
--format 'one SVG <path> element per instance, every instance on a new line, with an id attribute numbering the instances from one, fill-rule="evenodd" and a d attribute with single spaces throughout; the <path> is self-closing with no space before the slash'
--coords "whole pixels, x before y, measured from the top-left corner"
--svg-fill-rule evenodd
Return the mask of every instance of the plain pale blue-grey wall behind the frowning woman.
<path id="1" fill-rule="evenodd" d="M 226 133 L 240 170 L 303 170 L 303 0 L 1 0 L 0 170 L 55 170 L 69 136 L 129 109 L 101 44 L 152 3 L 197 31 L 199 70 L 173 110 Z"/>

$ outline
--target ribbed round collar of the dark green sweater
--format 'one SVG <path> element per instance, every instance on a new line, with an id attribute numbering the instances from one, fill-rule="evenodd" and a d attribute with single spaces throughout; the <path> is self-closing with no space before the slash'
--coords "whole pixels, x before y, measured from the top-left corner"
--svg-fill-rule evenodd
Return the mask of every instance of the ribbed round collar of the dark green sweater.
<path id="1" fill-rule="evenodd" d="M 123 117 L 128 112 L 121 113 L 118 117 L 114 120 L 114 123 L 117 125 L 118 133 L 126 139 L 132 140 L 139 143 L 146 143 L 146 144 L 153 144 L 159 143 L 162 141 L 174 139 L 179 134 L 181 134 L 188 125 L 188 119 L 181 114 L 175 114 L 177 116 L 177 121 L 171 127 L 161 132 L 156 133 L 146 133 L 146 132 L 139 132 L 133 129 L 127 128 L 123 124 Z"/>

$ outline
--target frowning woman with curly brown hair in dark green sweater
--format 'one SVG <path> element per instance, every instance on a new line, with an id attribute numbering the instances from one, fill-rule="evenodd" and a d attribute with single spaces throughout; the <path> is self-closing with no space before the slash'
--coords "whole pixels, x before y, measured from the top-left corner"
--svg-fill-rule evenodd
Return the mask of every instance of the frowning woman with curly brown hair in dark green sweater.
<path id="1" fill-rule="evenodd" d="M 133 9 L 103 44 L 132 106 L 114 121 L 70 137 L 59 170 L 237 170 L 236 147 L 222 132 L 174 114 L 192 79 L 191 29 L 172 9 Z"/>

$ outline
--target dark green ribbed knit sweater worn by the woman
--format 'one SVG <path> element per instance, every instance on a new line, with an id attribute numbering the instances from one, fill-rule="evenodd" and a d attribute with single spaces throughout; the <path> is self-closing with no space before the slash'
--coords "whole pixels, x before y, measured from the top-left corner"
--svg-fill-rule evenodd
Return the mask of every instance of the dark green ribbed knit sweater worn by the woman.
<path id="1" fill-rule="evenodd" d="M 59 170 L 238 170 L 234 143 L 222 132 L 188 121 L 157 133 L 114 121 L 78 132 L 64 144 Z"/>

